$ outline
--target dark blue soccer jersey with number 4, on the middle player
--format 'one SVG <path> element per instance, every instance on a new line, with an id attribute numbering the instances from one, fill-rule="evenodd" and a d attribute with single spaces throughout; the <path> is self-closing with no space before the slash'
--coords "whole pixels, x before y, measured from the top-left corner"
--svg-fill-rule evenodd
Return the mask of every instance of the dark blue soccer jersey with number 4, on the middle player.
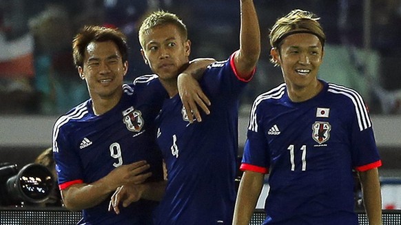
<path id="1" fill-rule="evenodd" d="M 234 57 L 207 68 L 200 81 L 211 114 L 189 124 L 178 95 L 165 100 L 158 144 L 167 166 L 167 188 L 156 224 L 231 224 L 236 200 L 238 97 L 247 81 L 236 76 Z"/>

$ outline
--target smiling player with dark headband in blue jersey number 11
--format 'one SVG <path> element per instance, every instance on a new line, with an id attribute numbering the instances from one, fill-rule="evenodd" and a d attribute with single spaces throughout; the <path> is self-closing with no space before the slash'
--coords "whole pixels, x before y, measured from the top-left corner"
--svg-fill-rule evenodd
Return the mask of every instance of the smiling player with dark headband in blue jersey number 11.
<path id="1" fill-rule="evenodd" d="M 251 107 L 233 224 L 249 224 L 269 173 L 263 224 L 357 225 L 353 169 L 369 224 L 382 224 L 371 119 L 355 90 L 317 78 L 326 40 L 318 19 L 293 10 L 271 29 L 271 61 L 285 83 Z"/>

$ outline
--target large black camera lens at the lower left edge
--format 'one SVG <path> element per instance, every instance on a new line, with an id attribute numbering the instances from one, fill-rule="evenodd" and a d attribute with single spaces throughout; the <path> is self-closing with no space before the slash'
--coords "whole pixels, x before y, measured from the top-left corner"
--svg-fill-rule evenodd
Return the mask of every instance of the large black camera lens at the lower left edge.
<path id="1" fill-rule="evenodd" d="M 0 166 L 0 204 L 3 206 L 45 202 L 52 189 L 52 173 L 41 164 L 30 163 L 21 170 L 17 164 Z"/>

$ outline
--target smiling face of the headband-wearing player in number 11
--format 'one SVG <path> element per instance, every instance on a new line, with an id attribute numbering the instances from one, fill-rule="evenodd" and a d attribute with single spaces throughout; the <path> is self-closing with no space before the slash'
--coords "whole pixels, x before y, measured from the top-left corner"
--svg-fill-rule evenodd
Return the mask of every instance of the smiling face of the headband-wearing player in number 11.
<path id="1" fill-rule="evenodd" d="M 322 64 L 322 44 L 313 34 L 291 34 L 282 41 L 280 52 L 271 51 L 280 64 L 287 87 L 304 89 L 318 83 L 318 70 Z"/>

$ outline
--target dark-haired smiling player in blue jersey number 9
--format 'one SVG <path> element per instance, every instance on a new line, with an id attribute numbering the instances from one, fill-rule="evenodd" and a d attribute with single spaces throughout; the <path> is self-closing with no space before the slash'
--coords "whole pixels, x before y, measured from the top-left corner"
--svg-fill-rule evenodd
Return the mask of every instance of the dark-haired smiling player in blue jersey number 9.
<path id="1" fill-rule="evenodd" d="M 154 119 L 167 92 L 155 75 L 123 84 L 127 44 L 119 30 L 83 28 L 73 54 L 90 99 L 54 124 L 52 148 L 63 203 L 83 211 L 79 224 L 153 224 L 154 200 L 160 197 L 152 191 L 164 189 Z M 112 193 L 133 184 L 140 200 L 119 215 L 107 211 Z"/>

